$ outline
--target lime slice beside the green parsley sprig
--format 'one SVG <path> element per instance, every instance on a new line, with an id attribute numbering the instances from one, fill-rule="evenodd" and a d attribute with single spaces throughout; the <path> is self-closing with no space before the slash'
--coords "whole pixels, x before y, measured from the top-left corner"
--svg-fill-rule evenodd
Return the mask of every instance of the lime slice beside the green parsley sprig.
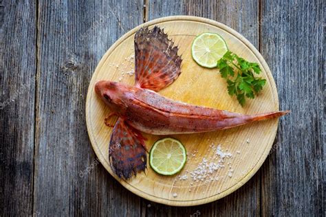
<path id="1" fill-rule="evenodd" d="M 191 46 L 193 59 L 206 68 L 214 68 L 226 52 L 228 47 L 224 39 L 215 33 L 203 33 L 195 38 Z"/>

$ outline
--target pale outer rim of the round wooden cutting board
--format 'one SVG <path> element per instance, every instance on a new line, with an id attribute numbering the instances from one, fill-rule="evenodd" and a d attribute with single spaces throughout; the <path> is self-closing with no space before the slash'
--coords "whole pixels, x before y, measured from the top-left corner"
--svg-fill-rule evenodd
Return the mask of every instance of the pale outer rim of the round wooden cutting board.
<path id="1" fill-rule="evenodd" d="M 141 25 L 138 25 L 137 27 L 133 28 L 132 30 L 129 30 L 129 32 L 127 32 L 126 34 L 124 34 L 121 38 L 118 39 L 118 41 L 116 41 L 116 43 L 114 43 L 109 50 L 105 53 L 105 55 L 101 58 L 100 62 L 98 63 L 98 66 L 96 67 L 91 81 L 89 82 L 89 89 L 87 91 L 87 98 L 86 98 L 86 108 L 85 108 L 85 113 L 86 113 L 86 124 L 87 124 L 87 133 L 89 134 L 89 139 L 91 141 L 91 146 L 94 148 L 94 151 L 96 152 L 96 156 L 98 157 L 98 159 L 100 160 L 100 162 L 103 164 L 103 166 L 105 167 L 105 169 L 117 180 L 119 181 L 124 187 L 127 188 L 127 190 L 133 192 L 134 194 L 137 194 L 138 196 L 141 196 L 142 198 L 145 198 L 146 200 L 149 201 L 153 201 L 155 203 L 162 203 L 164 205 L 172 205 L 172 206 L 180 206 L 180 207 L 186 207 L 186 206 L 195 206 L 195 205 L 203 205 L 206 203 L 210 203 L 213 201 L 217 201 L 220 198 L 223 198 L 224 196 L 227 196 L 228 194 L 231 194 L 232 192 L 235 192 L 235 190 L 238 190 L 239 187 L 241 187 L 242 185 L 244 185 L 249 179 L 252 178 L 252 176 L 254 176 L 254 174 L 259 170 L 259 168 L 261 168 L 261 165 L 263 165 L 263 162 L 265 161 L 265 159 L 268 157 L 268 154 L 270 152 L 270 149 L 272 148 L 272 144 L 274 143 L 274 139 L 272 139 L 272 142 L 270 144 L 268 144 L 268 146 L 266 146 L 265 148 L 265 152 L 263 152 L 263 155 L 261 156 L 261 158 L 259 159 L 259 161 L 257 162 L 257 164 L 254 166 L 254 168 L 252 168 L 252 170 L 250 170 L 250 172 L 248 172 L 248 174 L 246 176 L 243 177 L 243 179 L 241 179 L 241 181 L 239 181 L 237 184 L 233 185 L 232 187 L 230 187 L 228 190 L 221 192 L 221 194 L 217 194 L 215 196 L 210 196 L 209 198 L 202 198 L 196 201 L 173 201 L 173 200 L 169 200 L 169 199 L 164 199 L 164 198 L 158 198 L 155 196 L 151 196 L 149 194 L 146 194 L 140 190 L 138 190 L 137 188 L 133 187 L 132 185 L 129 185 L 129 183 L 127 183 L 126 181 L 119 179 L 118 176 L 116 176 L 115 174 L 113 174 L 110 165 L 107 163 L 107 161 L 104 159 L 104 157 L 102 157 L 102 153 L 100 152 L 100 150 L 98 149 L 97 146 L 94 146 L 95 144 L 95 139 L 94 137 L 90 134 L 89 132 L 89 126 L 90 126 L 90 122 L 91 120 L 89 119 L 89 99 L 91 97 L 91 93 L 93 92 L 93 85 L 94 85 L 94 76 L 96 76 L 96 74 L 98 73 L 98 71 L 100 71 L 100 68 L 102 67 L 102 65 L 104 64 L 105 60 L 108 58 L 109 54 L 111 54 L 111 52 L 116 49 L 116 47 L 118 47 L 118 45 L 120 45 L 120 43 L 122 43 L 126 38 L 128 38 L 129 36 L 131 36 L 132 34 L 134 34 L 135 32 L 137 32 L 137 30 L 140 29 L 140 27 L 147 27 L 150 25 L 155 25 L 155 24 L 159 24 L 159 23 L 164 23 L 166 21 L 197 21 L 200 23 L 208 23 L 210 25 L 214 25 L 216 27 L 220 27 L 221 29 L 226 30 L 227 32 L 230 32 L 230 34 L 233 34 L 234 36 L 236 36 L 237 38 L 239 38 L 240 41 L 242 41 L 246 46 L 248 46 L 250 48 L 250 50 L 252 50 L 252 52 L 254 53 L 254 55 L 257 56 L 257 58 L 259 59 L 259 62 L 261 62 L 262 67 L 265 69 L 266 71 L 266 75 L 268 76 L 268 80 L 270 80 L 270 84 L 271 84 L 271 88 L 272 88 L 272 92 L 276 93 L 276 95 L 273 94 L 274 97 L 274 106 L 275 106 L 275 110 L 279 109 L 279 97 L 277 94 L 277 89 L 276 89 L 276 84 L 274 81 L 274 78 L 272 76 L 272 72 L 270 71 L 270 68 L 268 67 L 267 63 L 265 62 L 263 56 L 261 56 L 261 54 L 259 53 L 259 51 L 254 47 L 254 45 L 252 45 L 246 38 L 244 38 L 241 34 L 239 34 L 239 32 L 232 30 L 232 28 L 219 23 L 217 21 L 213 21 L 210 19 L 206 19 L 206 18 L 202 18 L 202 17 L 198 17 L 198 16 L 166 16 L 163 18 L 159 18 L 159 19 L 154 19 L 152 21 L 143 23 Z M 276 122 L 276 124 L 278 124 L 279 121 Z M 274 132 L 272 132 L 272 137 L 275 138 L 276 137 L 276 132 L 277 132 L 277 125 L 276 125 L 276 129 L 274 130 Z M 105 163 L 103 163 L 105 162 Z"/>

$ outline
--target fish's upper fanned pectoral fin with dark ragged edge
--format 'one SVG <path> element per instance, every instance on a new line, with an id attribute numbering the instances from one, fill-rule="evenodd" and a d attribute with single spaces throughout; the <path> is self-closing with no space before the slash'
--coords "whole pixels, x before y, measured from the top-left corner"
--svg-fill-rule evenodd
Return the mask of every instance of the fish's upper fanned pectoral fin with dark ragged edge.
<path id="1" fill-rule="evenodd" d="M 155 26 L 141 28 L 135 34 L 135 84 L 160 91 L 181 73 L 181 56 L 168 35 Z"/>

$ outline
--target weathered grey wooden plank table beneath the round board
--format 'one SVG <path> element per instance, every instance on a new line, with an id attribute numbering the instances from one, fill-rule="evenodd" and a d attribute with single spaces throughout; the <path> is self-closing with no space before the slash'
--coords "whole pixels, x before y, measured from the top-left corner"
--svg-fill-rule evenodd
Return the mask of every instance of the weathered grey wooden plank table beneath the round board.
<path id="1" fill-rule="evenodd" d="M 89 80 L 107 49 L 177 14 L 248 38 L 272 70 L 280 109 L 292 110 L 259 172 L 198 207 L 125 190 L 96 161 L 85 124 Z M 0 1 L 0 27 L 0 216 L 325 214 L 325 1 Z"/>

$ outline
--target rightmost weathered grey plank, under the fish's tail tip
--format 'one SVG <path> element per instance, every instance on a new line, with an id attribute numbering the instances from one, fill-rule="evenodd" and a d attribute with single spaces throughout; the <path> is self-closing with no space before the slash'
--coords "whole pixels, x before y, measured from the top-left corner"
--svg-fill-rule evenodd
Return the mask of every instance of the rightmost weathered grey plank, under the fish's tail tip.
<path id="1" fill-rule="evenodd" d="M 292 110 L 281 119 L 263 166 L 262 213 L 323 216 L 325 1 L 263 1 L 261 18 L 261 53 L 274 74 L 281 109 Z"/>

